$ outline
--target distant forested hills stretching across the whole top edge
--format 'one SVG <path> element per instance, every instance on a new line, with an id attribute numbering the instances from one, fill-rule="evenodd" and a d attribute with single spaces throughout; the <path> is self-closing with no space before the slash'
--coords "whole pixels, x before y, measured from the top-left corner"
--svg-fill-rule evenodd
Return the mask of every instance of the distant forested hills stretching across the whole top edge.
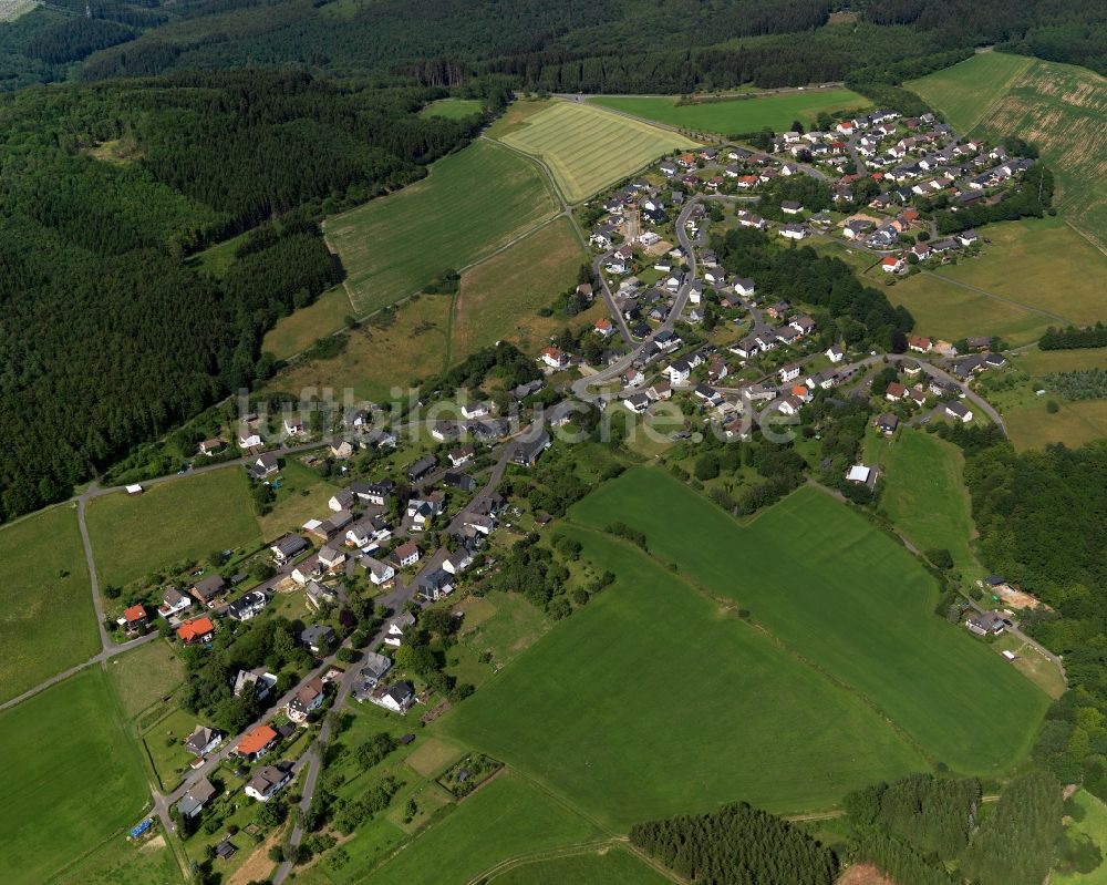
<path id="1" fill-rule="evenodd" d="M 686 92 L 887 83 L 872 72 L 984 44 L 1107 70 L 1107 14 L 1079 0 L 862 0 L 858 20 L 838 24 L 830 0 L 97 0 L 91 18 L 84 6 L 61 0 L 8 29 L 0 83 L 62 80 L 73 65 L 102 79 L 263 64 L 426 85 L 503 73 L 551 91 Z"/>

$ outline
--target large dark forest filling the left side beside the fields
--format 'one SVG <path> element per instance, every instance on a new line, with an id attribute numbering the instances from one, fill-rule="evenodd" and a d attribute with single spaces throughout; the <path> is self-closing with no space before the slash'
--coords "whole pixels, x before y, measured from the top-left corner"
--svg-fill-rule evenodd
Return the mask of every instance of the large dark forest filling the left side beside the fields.
<path id="1" fill-rule="evenodd" d="M 341 279 L 315 218 L 473 135 L 416 115 L 438 94 L 186 72 L 0 101 L 0 517 L 263 377 L 266 330 Z M 258 225 L 221 279 L 186 261 Z"/>

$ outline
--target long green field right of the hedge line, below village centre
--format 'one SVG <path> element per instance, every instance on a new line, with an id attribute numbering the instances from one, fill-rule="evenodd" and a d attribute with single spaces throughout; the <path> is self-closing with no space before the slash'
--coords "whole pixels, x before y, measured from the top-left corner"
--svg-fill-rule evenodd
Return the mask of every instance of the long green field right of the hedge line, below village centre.
<path id="1" fill-rule="evenodd" d="M 628 471 L 573 517 L 645 532 L 651 553 L 739 603 L 792 651 L 865 697 L 938 762 L 1002 774 L 1023 759 L 1047 698 L 963 629 L 896 541 L 803 487 L 741 527 L 668 473 Z M 487 693 L 487 692 L 485 692 Z"/>

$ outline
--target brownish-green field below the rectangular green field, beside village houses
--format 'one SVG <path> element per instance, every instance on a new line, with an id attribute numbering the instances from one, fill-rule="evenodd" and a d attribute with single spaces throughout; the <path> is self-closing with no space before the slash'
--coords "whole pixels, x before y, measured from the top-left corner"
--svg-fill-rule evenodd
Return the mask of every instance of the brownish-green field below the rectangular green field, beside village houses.
<path id="1" fill-rule="evenodd" d="M 540 350 L 567 323 L 563 317 L 539 317 L 538 309 L 577 285 L 586 260 L 569 219 L 559 218 L 466 270 L 454 307 L 451 358 L 462 360 L 499 340 L 515 342 L 525 353 Z M 590 326 L 604 311 L 599 301 L 568 325 Z"/>

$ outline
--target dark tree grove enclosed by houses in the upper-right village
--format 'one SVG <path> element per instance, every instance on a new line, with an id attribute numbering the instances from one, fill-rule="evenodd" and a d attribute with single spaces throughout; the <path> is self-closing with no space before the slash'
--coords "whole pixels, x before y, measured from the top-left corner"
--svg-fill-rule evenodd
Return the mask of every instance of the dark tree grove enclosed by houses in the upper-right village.
<path id="1" fill-rule="evenodd" d="M 777 246 L 761 230 L 735 228 L 712 236 L 712 248 L 732 274 L 757 280 L 762 297 L 813 305 L 829 322 L 819 322 L 827 344 L 878 344 L 902 353 L 914 320 L 903 307 L 892 307 L 887 296 L 862 286 L 853 271 L 837 258 L 826 258 L 809 246 Z"/>

